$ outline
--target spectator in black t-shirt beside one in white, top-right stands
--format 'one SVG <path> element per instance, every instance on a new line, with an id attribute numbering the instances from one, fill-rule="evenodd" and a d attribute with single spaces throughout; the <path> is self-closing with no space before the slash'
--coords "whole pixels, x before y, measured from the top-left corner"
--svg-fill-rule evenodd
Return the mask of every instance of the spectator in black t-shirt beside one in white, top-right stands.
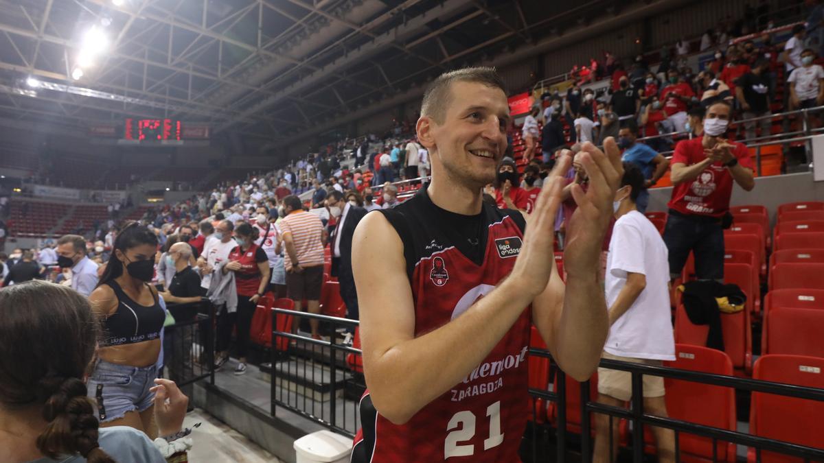
<path id="1" fill-rule="evenodd" d="M 770 91 L 770 81 L 766 77 L 766 72 L 770 70 L 770 63 L 763 58 L 759 58 L 753 63 L 751 72 L 747 72 L 738 79 L 738 87 L 735 89 L 738 105 L 744 111 L 743 119 L 764 118 L 758 121 L 761 126 L 761 137 L 770 135 L 772 119 L 769 117 L 770 101 L 767 96 Z M 744 123 L 747 140 L 756 138 L 756 121 Z"/>

